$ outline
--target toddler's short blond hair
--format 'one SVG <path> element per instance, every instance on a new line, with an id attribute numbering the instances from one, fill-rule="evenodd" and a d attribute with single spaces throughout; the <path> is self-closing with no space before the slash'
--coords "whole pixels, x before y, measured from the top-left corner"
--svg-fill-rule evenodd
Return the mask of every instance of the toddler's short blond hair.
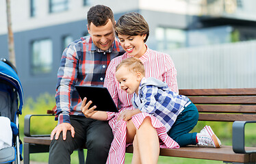
<path id="1" fill-rule="evenodd" d="M 120 64 L 116 66 L 116 71 L 121 67 L 127 67 L 131 72 L 140 72 L 143 76 L 145 76 L 145 68 L 144 64 L 140 59 L 136 57 L 129 57 L 127 59 L 123 59 Z"/>

